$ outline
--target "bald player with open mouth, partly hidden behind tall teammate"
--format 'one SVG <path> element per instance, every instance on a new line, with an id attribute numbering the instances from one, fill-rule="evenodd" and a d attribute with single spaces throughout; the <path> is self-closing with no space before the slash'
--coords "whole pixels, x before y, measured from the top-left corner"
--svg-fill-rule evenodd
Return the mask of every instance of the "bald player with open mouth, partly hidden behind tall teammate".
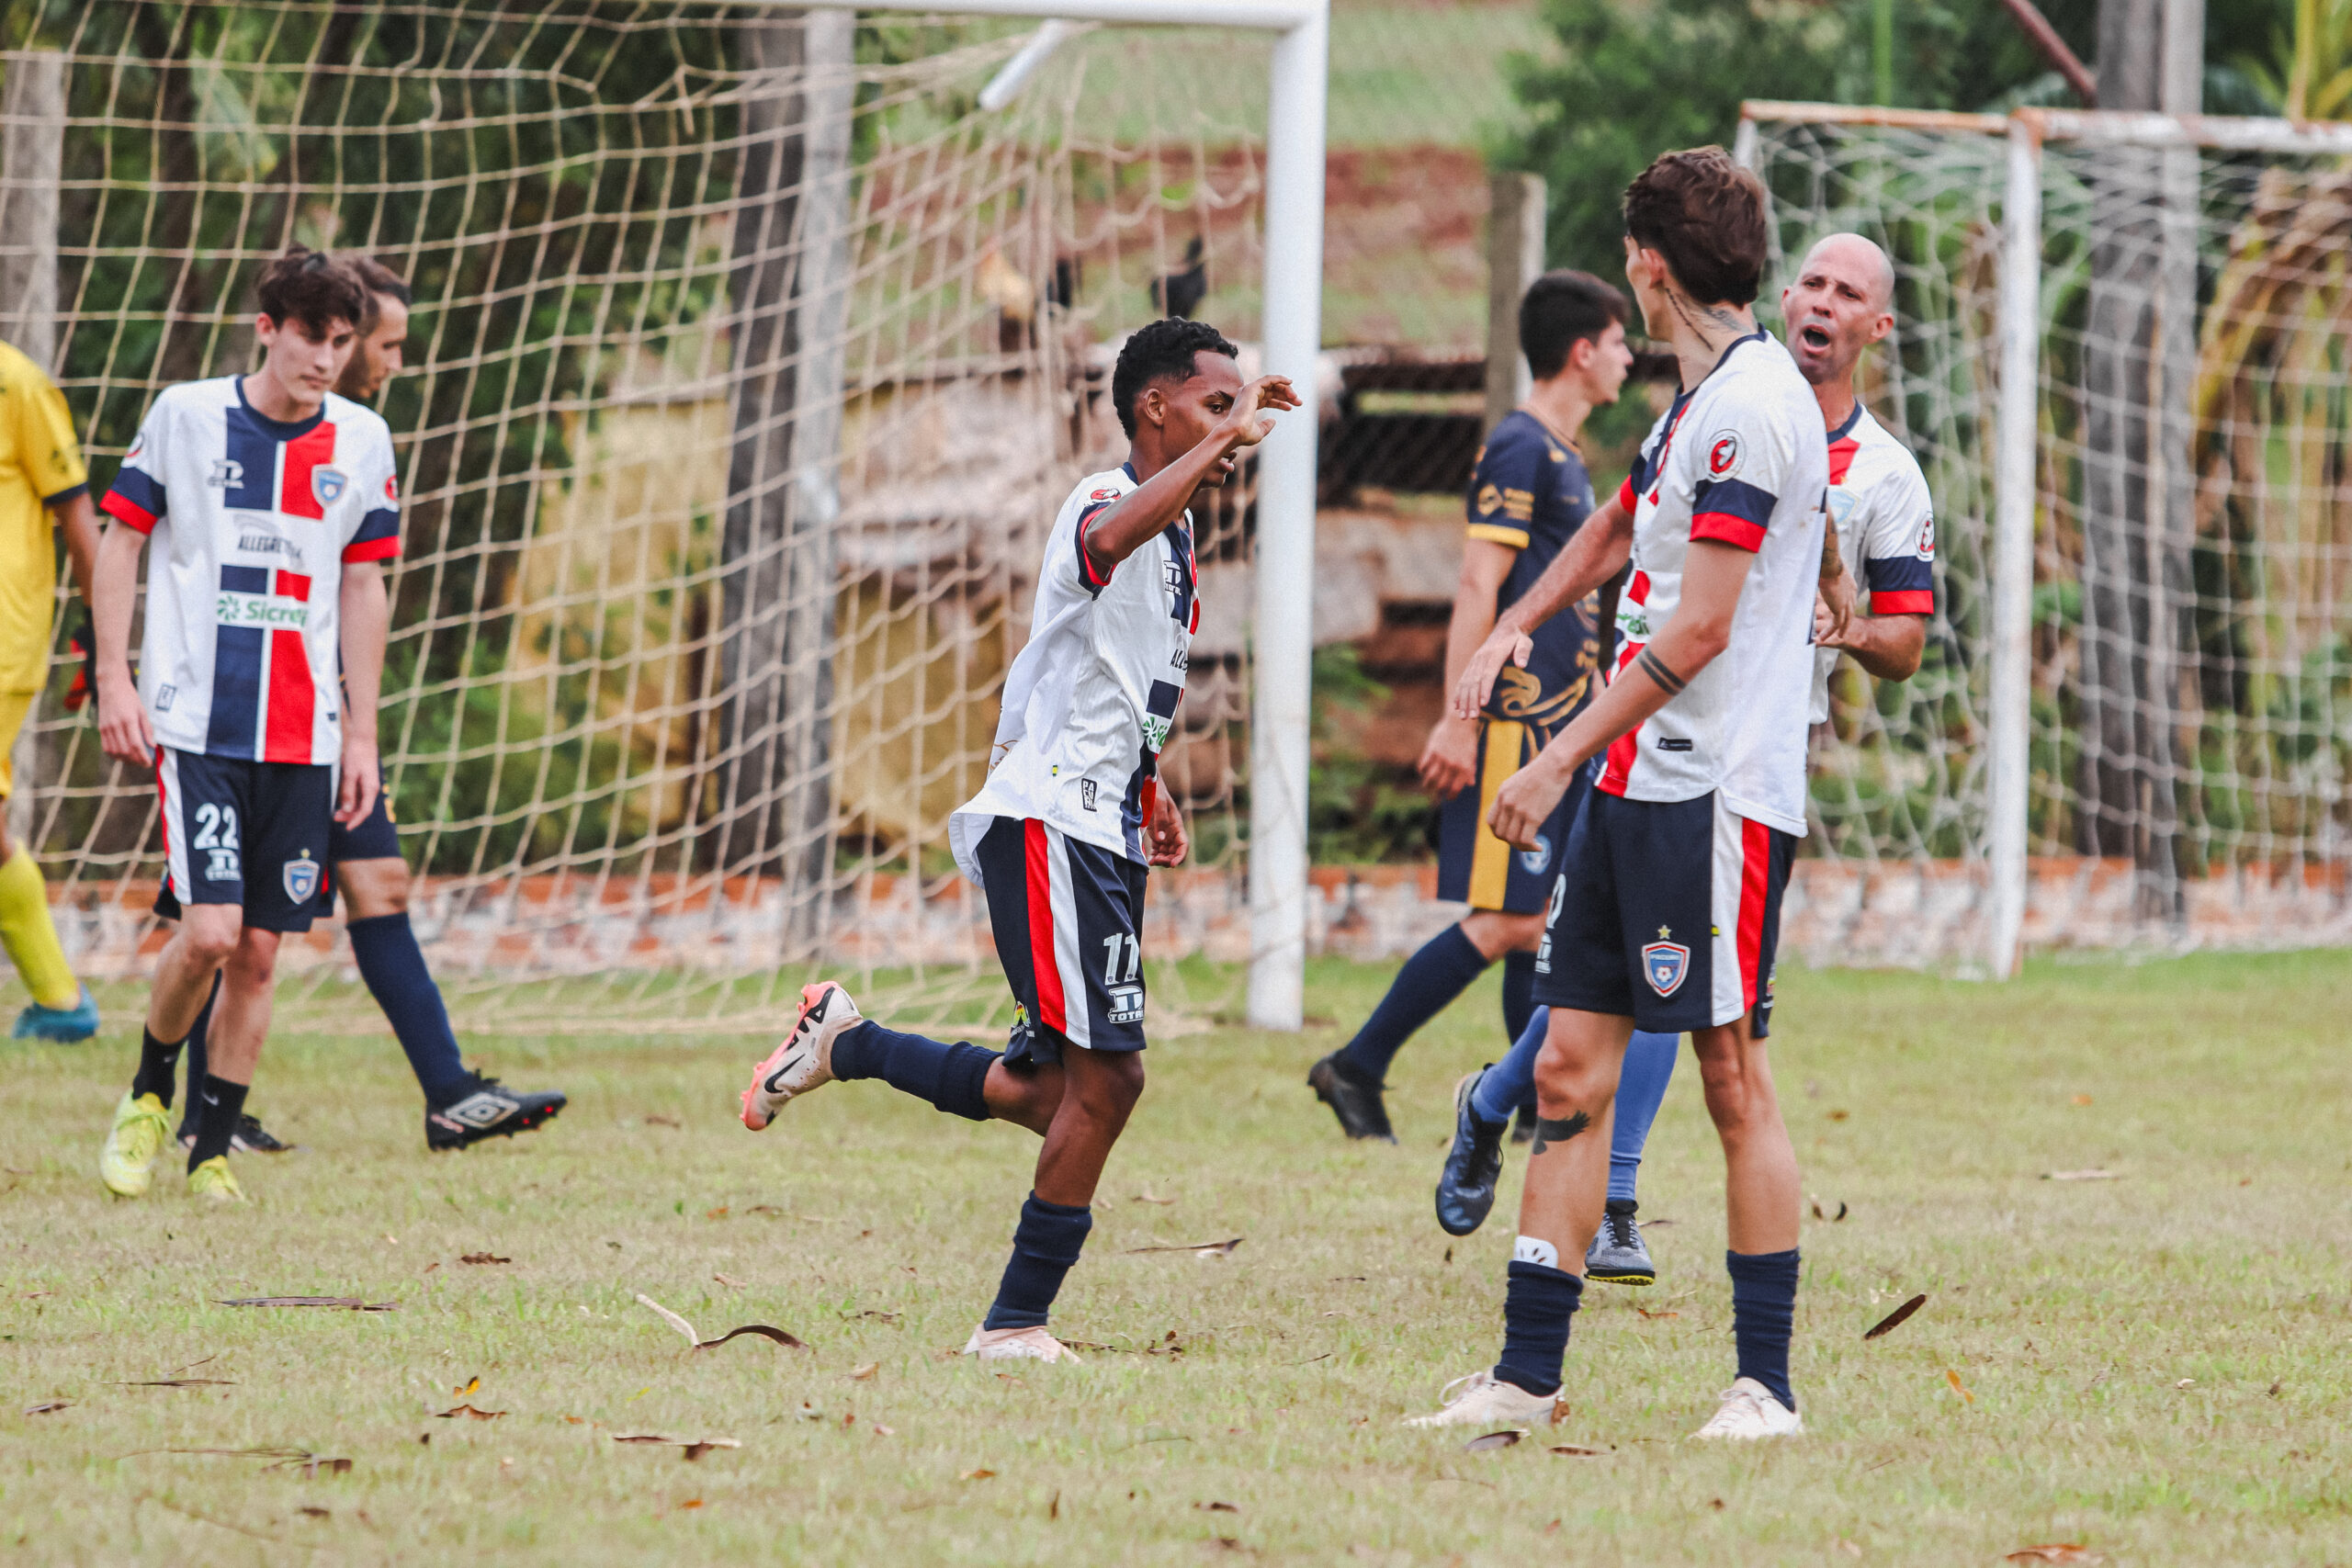
<path id="1" fill-rule="evenodd" d="M 1910 447 L 1879 425 L 1853 393 L 1863 350 L 1893 329 L 1893 266 L 1863 235 L 1828 235 L 1780 292 L 1780 320 L 1790 331 L 1790 355 L 1813 386 L 1830 440 L 1830 524 L 1842 559 L 1860 562 L 1870 611 L 1844 628 L 1823 607 L 1816 623 L 1813 705 L 1809 719 L 1830 719 L 1830 672 L 1837 654 L 1853 654 L 1877 679 L 1903 682 L 1919 668 L 1926 618 L 1936 614 L 1936 512 L 1926 475 Z M 1771 976 L 1764 976 L 1766 999 Z M 1769 1027 L 1769 1006 L 1757 1013 L 1757 1032 Z M 1479 1077 L 1470 1114 L 1456 1131 L 1437 1185 L 1437 1213 L 1456 1237 L 1470 1234 L 1494 1206 L 1494 1171 L 1501 1168 L 1501 1117 L 1536 1081 L 1550 1011 L 1536 1009 L 1510 1056 Z M 1609 1206 L 1599 1234 L 1585 1248 L 1585 1279 L 1646 1286 L 1656 1279 L 1649 1246 L 1635 1220 L 1637 1178 L 1665 1084 L 1675 1072 L 1682 1039 L 1637 1030 L 1625 1046 L 1613 1126 L 1609 1133 Z M 1484 1161 L 1482 1161 L 1484 1154 Z M 1458 1180 L 1486 1171 L 1484 1185 Z"/>

